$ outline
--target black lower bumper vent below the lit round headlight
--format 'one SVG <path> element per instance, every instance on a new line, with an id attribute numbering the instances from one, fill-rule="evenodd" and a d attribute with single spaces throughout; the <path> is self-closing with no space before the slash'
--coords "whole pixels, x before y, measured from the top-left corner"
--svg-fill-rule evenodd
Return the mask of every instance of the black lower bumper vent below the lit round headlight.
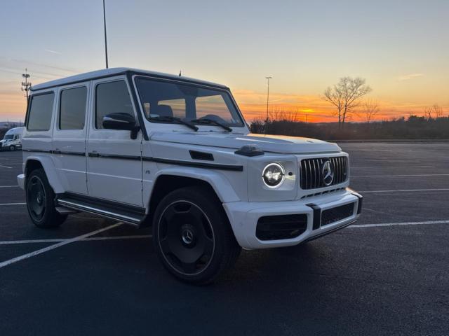
<path id="1" fill-rule="evenodd" d="M 291 239 L 307 230 L 307 215 L 264 216 L 257 221 L 256 237 L 260 240 Z"/>

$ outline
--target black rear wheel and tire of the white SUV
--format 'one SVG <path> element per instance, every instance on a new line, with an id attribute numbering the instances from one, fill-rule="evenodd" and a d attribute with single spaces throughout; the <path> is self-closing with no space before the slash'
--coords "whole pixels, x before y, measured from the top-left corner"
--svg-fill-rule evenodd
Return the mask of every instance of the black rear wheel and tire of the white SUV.
<path id="1" fill-rule="evenodd" d="M 55 209 L 55 193 L 43 169 L 34 169 L 27 176 L 25 194 L 29 218 L 38 228 L 57 228 L 67 218 Z"/>

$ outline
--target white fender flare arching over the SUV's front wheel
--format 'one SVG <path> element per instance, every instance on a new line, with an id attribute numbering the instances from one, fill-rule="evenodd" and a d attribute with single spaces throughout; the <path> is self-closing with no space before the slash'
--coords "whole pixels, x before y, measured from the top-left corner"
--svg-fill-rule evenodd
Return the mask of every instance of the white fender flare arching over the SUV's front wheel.
<path id="1" fill-rule="evenodd" d="M 217 197 L 222 203 L 240 201 L 239 195 L 236 194 L 234 188 L 232 188 L 232 184 L 229 183 L 226 176 L 212 169 L 196 167 L 170 167 L 161 169 L 156 173 L 156 176 L 154 176 L 153 187 L 156 185 L 159 176 L 163 175 L 181 176 L 205 181 L 213 188 L 215 194 L 217 194 Z M 152 195 L 152 193 L 153 190 L 151 190 L 150 195 Z"/>

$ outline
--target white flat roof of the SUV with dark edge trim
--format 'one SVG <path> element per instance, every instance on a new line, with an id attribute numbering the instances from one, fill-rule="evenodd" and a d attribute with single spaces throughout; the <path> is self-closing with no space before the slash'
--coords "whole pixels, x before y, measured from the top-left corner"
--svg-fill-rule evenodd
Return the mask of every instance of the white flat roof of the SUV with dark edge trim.
<path id="1" fill-rule="evenodd" d="M 46 83 L 33 85 L 31 90 L 32 91 L 43 90 L 43 89 L 48 89 L 50 87 L 69 85 L 72 83 L 84 82 L 86 80 L 93 80 L 93 79 L 97 79 L 97 78 L 105 78 L 105 77 L 110 77 L 110 76 L 123 75 L 126 73 L 138 74 L 138 75 L 143 75 L 143 76 L 152 76 L 152 77 L 156 77 L 156 78 L 174 79 L 174 80 L 180 80 L 180 81 L 187 82 L 187 83 L 196 83 L 196 84 L 202 84 L 202 85 L 208 85 L 208 86 L 219 87 L 222 89 L 227 89 L 227 87 L 225 85 L 210 83 L 205 80 L 199 80 L 199 79 L 194 79 L 194 78 L 189 78 L 189 77 L 184 77 L 184 76 L 171 75 L 170 73 L 161 73 L 161 72 L 156 72 L 156 71 L 147 71 L 147 70 L 132 69 L 132 68 L 109 68 L 109 69 L 95 70 L 95 71 L 86 72 L 86 73 L 80 73 L 79 75 L 69 76 L 69 77 L 65 77 L 65 78 L 51 80 Z"/>

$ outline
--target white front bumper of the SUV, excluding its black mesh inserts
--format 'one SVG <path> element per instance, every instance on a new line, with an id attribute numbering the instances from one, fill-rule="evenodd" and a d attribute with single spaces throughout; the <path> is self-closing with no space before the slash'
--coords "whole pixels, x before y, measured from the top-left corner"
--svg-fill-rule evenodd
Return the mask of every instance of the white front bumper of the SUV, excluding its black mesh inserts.
<path id="1" fill-rule="evenodd" d="M 320 195 L 288 202 L 229 202 L 223 204 L 234 230 L 234 235 L 243 248 L 272 248 L 293 246 L 321 237 L 354 223 L 361 212 L 362 197 L 347 188 L 341 192 Z M 322 211 L 354 204 L 351 216 L 321 226 Z M 264 216 L 305 214 L 307 228 L 299 236 L 289 239 L 260 240 L 256 237 L 257 221 Z"/>

